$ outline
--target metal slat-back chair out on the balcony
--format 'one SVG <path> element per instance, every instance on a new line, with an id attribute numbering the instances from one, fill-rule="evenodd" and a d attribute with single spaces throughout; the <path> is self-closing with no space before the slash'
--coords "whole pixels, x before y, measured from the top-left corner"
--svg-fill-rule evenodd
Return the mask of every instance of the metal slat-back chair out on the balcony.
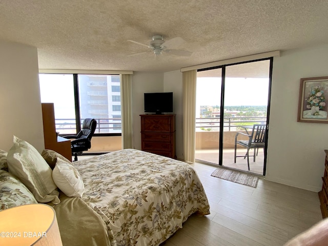
<path id="1" fill-rule="evenodd" d="M 265 146 L 265 128 L 267 125 L 254 125 L 251 134 L 245 134 L 242 132 L 237 132 L 235 136 L 235 163 L 237 157 L 247 157 L 247 165 L 248 170 L 250 170 L 250 156 L 253 156 L 253 160 L 255 161 L 255 156 L 258 154 L 259 148 L 264 148 Z M 248 140 L 238 140 L 238 135 L 247 136 Z M 247 152 L 245 155 L 237 156 L 237 145 L 241 145 L 247 148 Z M 254 154 L 250 155 L 250 149 L 254 149 Z M 255 153 L 256 152 L 256 153 Z"/>

